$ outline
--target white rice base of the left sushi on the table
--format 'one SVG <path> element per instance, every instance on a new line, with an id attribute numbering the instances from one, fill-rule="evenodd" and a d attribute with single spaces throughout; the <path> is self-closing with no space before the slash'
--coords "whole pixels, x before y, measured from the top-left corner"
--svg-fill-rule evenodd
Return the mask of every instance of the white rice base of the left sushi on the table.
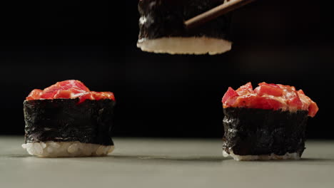
<path id="1" fill-rule="evenodd" d="M 113 145 L 94 145 L 82 142 L 29 142 L 22 147 L 30 155 L 39 157 L 89 157 L 106 156 L 115 148 Z"/>

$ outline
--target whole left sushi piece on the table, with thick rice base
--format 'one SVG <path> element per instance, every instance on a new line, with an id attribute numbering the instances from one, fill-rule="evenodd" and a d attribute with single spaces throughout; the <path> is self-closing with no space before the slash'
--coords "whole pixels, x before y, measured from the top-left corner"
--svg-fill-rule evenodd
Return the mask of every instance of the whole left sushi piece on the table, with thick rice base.
<path id="1" fill-rule="evenodd" d="M 24 100 L 22 147 L 39 157 L 108 155 L 114 105 L 113 93 L 91 91 L 79 80 L 32 90 Z"/>

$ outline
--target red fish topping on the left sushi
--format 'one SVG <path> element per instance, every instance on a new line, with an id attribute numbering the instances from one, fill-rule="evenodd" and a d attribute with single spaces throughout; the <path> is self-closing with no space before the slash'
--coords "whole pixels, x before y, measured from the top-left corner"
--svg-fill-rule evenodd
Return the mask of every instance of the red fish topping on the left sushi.
<path id="1" fill-rule="evenodd" d="M 79 80 L 65 80 L 51 85 L 44 90 L 34 89 L 26 97 L 26 100 L 56 99 L 56 98 L 79 98 L 79 103 L 84 100 L 115 100 L 111 92 L 96 92 L 89 90 L 86 85 Z"/>

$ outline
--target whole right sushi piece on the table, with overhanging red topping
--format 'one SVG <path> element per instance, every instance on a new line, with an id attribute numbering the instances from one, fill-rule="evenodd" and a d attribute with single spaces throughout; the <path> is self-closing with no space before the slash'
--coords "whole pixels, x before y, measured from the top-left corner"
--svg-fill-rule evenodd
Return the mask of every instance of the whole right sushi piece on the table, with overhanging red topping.
<path id="1" fill-rule="evenodd" d="M 234 160 L 300 159 L 308 117 L 319 110 L 303 90 L 268 83 L 230 87 L 222 103 L 223 156 Z"/>

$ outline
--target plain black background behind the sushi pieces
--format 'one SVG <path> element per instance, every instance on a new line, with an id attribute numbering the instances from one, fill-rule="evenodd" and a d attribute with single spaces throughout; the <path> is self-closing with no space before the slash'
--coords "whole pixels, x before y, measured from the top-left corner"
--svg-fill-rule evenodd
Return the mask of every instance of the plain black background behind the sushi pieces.
<path id="1" fill-rule="evenodd" d="M 83 81 L 116 95 L 114 136 L 222 137 L 221 98 L 251 81 L 302 88 L 320 108 L 308 137 L 334 138 L 331 1 L 259 0 L 234 11 L 233 49 L 170 56 L 136 48 L 138 1 L 1 4 L 0 135 L 24 134 L 34 88 Z"/>

